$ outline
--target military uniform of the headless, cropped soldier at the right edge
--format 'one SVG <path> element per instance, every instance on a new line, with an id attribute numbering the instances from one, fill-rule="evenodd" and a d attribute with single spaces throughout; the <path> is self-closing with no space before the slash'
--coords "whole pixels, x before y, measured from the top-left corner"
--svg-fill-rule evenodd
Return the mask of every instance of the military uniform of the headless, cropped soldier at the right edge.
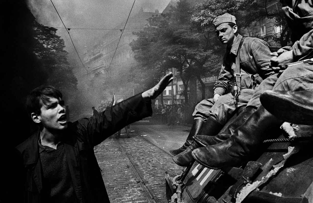
<path id="1" fill-rule="evenodd" d="M 291 1 L 285 3 L 292 5 Z M 296 1 L 292 8 L 285 6 L 282 10 L 290 28 L 297 30 L 291 34 L 291 39 L 294 42 L 292 46 L 294 61 L 313 58 L 312 1 Z M 265 82 L 272 84 L 268 90 L 302 91 L 313 89 L 313 65 L 301 64 L 289 67 L 284 70 L 279 78 L 271 76 L 265 79 Z M 263 88 L 256 91 L 247 106 L 259 107 L 261 104 L 259 97 L 263 91 Z"/>

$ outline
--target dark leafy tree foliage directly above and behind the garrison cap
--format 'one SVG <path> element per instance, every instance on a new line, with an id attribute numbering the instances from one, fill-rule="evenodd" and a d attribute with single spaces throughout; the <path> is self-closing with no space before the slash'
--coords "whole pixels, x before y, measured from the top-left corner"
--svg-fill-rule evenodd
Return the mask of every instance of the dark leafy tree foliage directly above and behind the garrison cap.
<path id="1" fill-rule="evenodd" d="M 281 12 L 279 0 L 205 0 L 197 4 L 197 12 L 192 21 L 203 27 L 214 30 L 213 19 L 224 13 L 236 15 L 237 24 L 241 30 L 254 27 L 260 20 L 274 19 L 275 26 L 282 30 L 277 34 L 270 34 L 260 37 L 266 41 L 279 42 L 286 46 L 290 41 L 290 31 L 285 17 Z M 268 9 L 275 6 L 275 9 Z"/>

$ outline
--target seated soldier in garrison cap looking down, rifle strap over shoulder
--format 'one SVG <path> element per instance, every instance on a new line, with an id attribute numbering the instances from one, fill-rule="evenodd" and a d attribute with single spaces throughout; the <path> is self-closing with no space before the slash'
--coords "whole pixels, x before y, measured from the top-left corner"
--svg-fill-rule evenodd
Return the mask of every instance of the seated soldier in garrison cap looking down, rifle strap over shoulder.
<path id="1" fill-rule="evenodd" d="M 240 35 L 235 16 L 225 13 L 217 16 L 213 24 L 219 41 L 226 45 L 226 52 L 218 80 L 214 84 L 213 98 L 205 99 L 195 107 L 194 122 L 186 143 L 181 148 L 171 151 L 176 155 L 174 161 L 181 166 L 186 166 L 194 160 L 191 156 L 191 151 L 196 147 L 191 145 L 193 136 L 209 135 L 201 138 L 204 145 L 222 142 L 226 138 L 212 140 L 210 137 L 218 134 L 240 107 L 243 107 L 244 111 L 227 130 L 237 128 L 256 111 L 260 105 L 257 100 L 252 104 L 253 107 L 245 107 L 257 88 L 270 89 L 268 84 L 262 86 L 260 84 L 265 78 L 275 74 L 269 68 L 271 58 L 269 45 L 262 39 Z M 235 89 L 236 98 L 234 98 Z"/>

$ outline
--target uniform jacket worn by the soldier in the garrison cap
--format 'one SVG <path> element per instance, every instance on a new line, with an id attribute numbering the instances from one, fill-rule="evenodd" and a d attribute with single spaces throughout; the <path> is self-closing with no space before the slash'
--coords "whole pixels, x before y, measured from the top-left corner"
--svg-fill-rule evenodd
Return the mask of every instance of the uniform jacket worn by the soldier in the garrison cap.
<path id="1" fill-rule="evenodd" d="M 234 78 L 235 58 L 242 38 L 243 36 L 238 34 L 231 49 L 227 48 L 223 57 L 221 72 L 214 84 L 214 94 L 224 95 L 229 92 L 228 81 Z M 258 79 L 262 81 L 274 74 L 274 71 L 269 68 L 271 58 L 269 45 L 264 40 L 244 37 L 244 42 L 240 48 L 241 89 L 252 88 L 251 75 L 259 74 L 260 78 Z"/>

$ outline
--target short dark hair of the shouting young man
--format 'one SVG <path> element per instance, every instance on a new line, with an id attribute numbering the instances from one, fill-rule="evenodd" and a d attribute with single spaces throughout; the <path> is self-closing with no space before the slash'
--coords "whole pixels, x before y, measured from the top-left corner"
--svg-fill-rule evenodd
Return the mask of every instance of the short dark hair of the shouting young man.
<path id="1" fill-rule="evenodd" d="M 27 96 L 26 100 L 26 110 L 28 115 L 30 116 L 31 113 L 37 113 L 40 114 L 40 108 L 42 107 L 42 104 L 40 101 L 44 104 L 49 103 L 49 98 L 56 98 L 62 99 L 62 93 L 55 89 L 54 86 L 39 86 L 35 89 L 33 89 Z"/>

